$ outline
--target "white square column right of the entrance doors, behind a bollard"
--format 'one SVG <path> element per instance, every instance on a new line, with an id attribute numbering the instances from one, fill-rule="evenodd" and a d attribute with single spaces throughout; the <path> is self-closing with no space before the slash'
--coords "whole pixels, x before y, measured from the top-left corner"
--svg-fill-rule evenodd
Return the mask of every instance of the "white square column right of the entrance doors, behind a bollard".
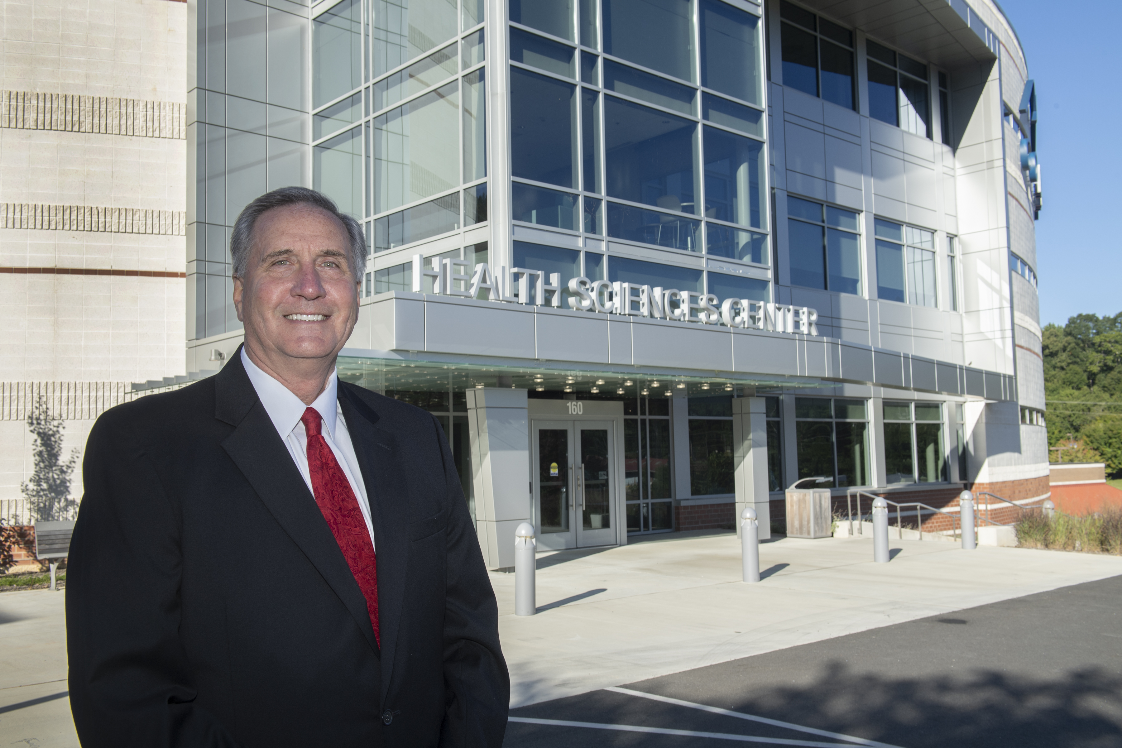
<path id="1" fill-rule="evenodd" d="M 760 539 L 771 537 L 771 505 L 767 497 L 767 415 L 762 397 L 733 399 L 733 464 L 736 484 L 736 517 L 746 507 L 756 511 Z M 741 532 L 741 523 L 736 523 Z"/>

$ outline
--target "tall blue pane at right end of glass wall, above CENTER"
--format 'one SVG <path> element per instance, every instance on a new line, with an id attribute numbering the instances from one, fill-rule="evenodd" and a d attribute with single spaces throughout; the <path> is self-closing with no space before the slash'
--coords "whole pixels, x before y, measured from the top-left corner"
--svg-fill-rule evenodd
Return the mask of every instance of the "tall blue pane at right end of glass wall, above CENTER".
<path id="1" fill-rule="evenodd" d="M 763 144 L 705 128 L 705 215 L 729 223 L 764 228 L 763 196 L 766 156 Z"/>

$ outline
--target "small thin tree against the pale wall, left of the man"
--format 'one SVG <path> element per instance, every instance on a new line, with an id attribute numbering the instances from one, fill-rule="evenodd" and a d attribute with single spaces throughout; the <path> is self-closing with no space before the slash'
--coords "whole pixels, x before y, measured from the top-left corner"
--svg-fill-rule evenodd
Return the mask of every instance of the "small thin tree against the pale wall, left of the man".
<path id="1" fill-rule="evenodd" d="M 31 446 L 35 471 L 31 480 L 20 483 L 20 491 L 36 520 L 66 519 L 77 506 L 70 496 L 70 484 L 79 451 L 73 450 L 63 459 L 63 421 L 50 417 L 47 399 L 42 395 L 27 414 L 27 428 L 35 436 Z"/>

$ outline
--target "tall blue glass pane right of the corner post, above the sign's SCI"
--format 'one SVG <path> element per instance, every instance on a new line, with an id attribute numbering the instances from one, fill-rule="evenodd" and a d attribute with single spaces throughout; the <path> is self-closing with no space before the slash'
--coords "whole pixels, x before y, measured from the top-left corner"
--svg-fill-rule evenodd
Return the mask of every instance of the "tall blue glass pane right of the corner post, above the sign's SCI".
<path id="1" fill-rule="evenodd" d="M 577 186 L 577 86 L 511 68 L 512 174 Z"/>

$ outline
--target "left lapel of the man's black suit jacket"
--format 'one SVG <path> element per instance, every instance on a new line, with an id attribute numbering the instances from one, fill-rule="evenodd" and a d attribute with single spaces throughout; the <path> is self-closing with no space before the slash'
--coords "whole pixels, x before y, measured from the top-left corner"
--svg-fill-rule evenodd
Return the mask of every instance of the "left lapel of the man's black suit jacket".
<path id="1" fill-rule="evenodd" d="M 240 349 L 215 376 L 214 386 L 214 415 L 234 426 L 233 433 L 222 442 L 222 447 L 280 527 L 339 595 L 377 654 L 378 645 L 370 626 L 366 598 L 307 490 L 307 483 L 293 463 L 265 406 L 257 398 L 257 391 L 241 366 Z M 381 542 L 380 537 L 378 542 Z"/>

